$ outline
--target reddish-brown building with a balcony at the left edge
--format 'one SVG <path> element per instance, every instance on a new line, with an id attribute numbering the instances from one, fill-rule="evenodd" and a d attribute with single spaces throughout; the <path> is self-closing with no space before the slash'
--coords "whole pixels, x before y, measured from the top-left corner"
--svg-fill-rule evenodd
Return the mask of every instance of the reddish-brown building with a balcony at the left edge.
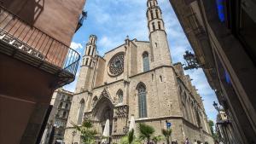
<path id="1" fill-rule="evenodd" d="M 75 78 L 80 56 L 69 45 L 84 3 L 1 0 L 0 143 L 41 140 L 54 90 Z"/>

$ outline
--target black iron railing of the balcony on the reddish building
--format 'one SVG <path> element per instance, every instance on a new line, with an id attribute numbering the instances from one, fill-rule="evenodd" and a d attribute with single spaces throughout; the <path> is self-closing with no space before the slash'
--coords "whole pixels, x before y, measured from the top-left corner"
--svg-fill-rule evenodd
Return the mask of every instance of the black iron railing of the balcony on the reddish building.
<path id="1" fill-rule="evenodd" d="M 77 72 L 80 60 L 77 51 L 29 25 L 3 6 L 0 6 L 0 41 L 61 71 L 73 75 Z"/>

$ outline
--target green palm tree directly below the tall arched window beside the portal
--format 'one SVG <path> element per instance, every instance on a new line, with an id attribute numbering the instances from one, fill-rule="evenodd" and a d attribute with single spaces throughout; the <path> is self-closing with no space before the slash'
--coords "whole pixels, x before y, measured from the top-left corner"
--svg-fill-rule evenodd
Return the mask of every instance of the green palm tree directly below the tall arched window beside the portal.
<path id="1" fill-rule="evenodd" d="M 154 128 L 148 124 L 138 124 L 138 129 L 140 132 L 140 139 L 146 140 L 147 143 L 149 143 L 150 138 L 154 135 Z"/>

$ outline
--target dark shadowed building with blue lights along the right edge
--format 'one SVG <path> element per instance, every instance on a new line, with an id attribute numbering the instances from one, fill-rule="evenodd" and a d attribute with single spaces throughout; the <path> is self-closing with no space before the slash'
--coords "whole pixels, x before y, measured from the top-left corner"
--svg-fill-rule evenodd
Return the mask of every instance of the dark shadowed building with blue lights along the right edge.
<path id="1" fill-rule="evenodd" d="M 170 0 L 230 120 L 225 143 L 256 143 L 256 3 Z"/>

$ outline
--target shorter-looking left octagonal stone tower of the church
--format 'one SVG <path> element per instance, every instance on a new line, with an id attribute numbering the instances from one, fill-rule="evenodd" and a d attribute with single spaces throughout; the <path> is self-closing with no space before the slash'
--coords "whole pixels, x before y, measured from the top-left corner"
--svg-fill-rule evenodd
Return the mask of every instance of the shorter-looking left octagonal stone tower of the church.
<path id="1" fill-rule="evenodd" d="M 89 42 L 86 43 L 78 83 L 76 86 L 77 93 L 91 90 L 93 70 L 95 68 L 96 60 L 96 40 L 97 37 L 95 35 L 90 35 Z"/>

